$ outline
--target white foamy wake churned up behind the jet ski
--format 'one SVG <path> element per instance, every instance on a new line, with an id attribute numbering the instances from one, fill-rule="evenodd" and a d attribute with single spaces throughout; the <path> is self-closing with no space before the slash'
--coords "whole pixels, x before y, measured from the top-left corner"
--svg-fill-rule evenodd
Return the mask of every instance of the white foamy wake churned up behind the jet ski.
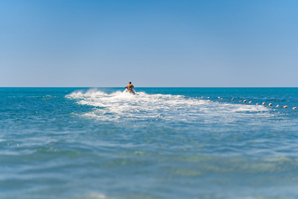
<path id="1" fill-rule="evenodd" d="M 131 95 L 117 91 L 107 94 L 103 91 L 90 89 L 75 91 L 67 98 L 77 99 L 81 105 L 94 106 L 93 110 L 84 116 L 99 120 L 176 120 L 176 121 L 211 121 L 219 117 L 220 120 L 237 120 L 237 117 L 250 117 L 249 113 L 270 117 L 267 108 L 256 105 L 224 104 L 190 98 L 182 95 L 146 94 L 138 92 Z"/>

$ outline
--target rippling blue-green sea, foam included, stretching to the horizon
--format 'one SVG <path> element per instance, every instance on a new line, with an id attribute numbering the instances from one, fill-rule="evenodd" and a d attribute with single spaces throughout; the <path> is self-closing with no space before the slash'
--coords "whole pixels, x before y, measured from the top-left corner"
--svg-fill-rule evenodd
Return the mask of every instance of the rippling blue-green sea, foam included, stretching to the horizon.
<path id="1" fill-rule="evenodd" d="M 298 88 L 135 90 L 0 88 L 0 198 L 298 198 Z"/>

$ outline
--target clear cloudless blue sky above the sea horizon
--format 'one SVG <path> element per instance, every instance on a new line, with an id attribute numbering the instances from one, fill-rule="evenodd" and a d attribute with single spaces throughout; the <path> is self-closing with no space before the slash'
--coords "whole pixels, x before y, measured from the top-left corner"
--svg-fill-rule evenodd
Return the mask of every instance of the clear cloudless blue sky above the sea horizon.
<path id="1" fill-rule="evenodd" d="M 0 3 L 0 87 L 298 87 L 297 0 Z"/>

